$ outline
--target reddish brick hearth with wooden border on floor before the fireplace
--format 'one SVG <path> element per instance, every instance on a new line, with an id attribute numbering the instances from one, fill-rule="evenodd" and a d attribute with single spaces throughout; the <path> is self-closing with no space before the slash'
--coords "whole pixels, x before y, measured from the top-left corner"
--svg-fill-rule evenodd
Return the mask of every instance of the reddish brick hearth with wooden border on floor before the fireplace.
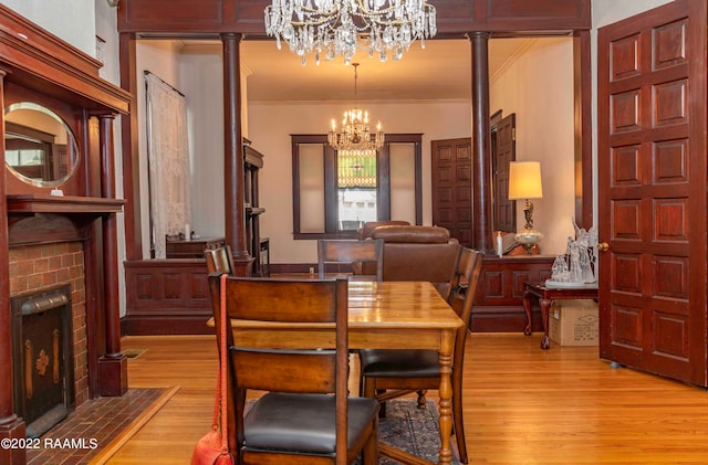
<path id="1" fill-rule="evenodd" d="M 128 389 L 122 397 L 88 400 L 28 450 L 28 465 L 106 463 L 179 390 Z"/>

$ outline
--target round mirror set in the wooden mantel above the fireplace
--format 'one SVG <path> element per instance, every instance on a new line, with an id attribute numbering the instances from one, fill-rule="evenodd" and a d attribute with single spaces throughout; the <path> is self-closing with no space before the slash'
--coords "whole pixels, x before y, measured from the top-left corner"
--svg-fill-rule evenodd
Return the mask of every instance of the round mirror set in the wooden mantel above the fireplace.
<path id="1" fill-rule="evenodd" d="M 4 112 L 4 162 L 20 179 L 56 187 L 76 169 L 79 148 L 73 133 L 54 112 L 20 102 Z"/>

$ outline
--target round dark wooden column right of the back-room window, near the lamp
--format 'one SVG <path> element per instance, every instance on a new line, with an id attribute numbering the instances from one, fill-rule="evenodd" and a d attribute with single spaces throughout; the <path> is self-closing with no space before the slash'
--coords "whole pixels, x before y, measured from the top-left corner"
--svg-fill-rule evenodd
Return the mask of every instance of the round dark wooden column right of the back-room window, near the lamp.
<path id="1" fill-rule="evenodd" d="M 489 32 L 469 34 L 472 43 L 472 246 L 491 252 L 491 142 L 489 129 Z"/>

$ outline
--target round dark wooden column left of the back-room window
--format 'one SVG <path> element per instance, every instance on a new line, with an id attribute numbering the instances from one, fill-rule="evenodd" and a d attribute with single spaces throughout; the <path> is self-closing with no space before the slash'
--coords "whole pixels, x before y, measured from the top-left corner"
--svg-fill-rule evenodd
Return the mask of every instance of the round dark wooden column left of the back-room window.
<path id="1" fill-rule="evenodd" d="M 226 243 L 231 246 L 235 273 L 250 275 L 243 200 L 243 137 L 241 134 L 241 34 L 221 34 L 223 46 L 223 189 Z"/>

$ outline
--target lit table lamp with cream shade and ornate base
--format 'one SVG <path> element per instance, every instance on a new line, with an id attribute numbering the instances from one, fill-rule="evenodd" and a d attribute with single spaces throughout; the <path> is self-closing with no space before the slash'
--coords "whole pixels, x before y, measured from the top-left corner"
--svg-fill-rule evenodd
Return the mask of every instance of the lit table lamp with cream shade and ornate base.
<path id="1" fill-rule="evenodd" d="M 509 163 L 509 200 L 527 201 L 523 215 L 527 224 L 523 231 L 514 237 L 527 250 L 527 255 L 531 255 L 531 249 L 543 239 L 543 234 L 533 229 L 533 203 L 530 199 L 541 199 L 543 188 L 541 187 L 541 162 L 540 161 L 511 161 Z"/>

